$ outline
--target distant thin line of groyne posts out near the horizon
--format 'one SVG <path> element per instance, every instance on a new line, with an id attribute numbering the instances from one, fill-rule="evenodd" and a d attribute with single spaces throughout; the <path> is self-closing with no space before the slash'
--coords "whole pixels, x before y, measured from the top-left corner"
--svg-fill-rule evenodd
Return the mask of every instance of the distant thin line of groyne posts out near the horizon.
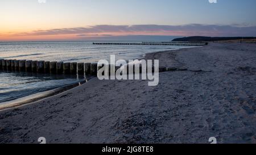
<path id="1" fill-rule="evenodd" d="M 185 42 L 185 41 L 170 41 L 170 42 L 142 42 L 142 43 L 93 43 L 93 45 L 164 45 L 164 46 L 203 46 L 205 42 Z"/>

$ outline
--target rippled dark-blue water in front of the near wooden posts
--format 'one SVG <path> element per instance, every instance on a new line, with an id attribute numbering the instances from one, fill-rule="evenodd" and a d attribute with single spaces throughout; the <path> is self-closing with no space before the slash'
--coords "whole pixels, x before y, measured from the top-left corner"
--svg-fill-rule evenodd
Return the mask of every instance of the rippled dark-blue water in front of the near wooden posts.
<path id="1" fill-rule="evenodd" d="M 0 72 L 0 102 L 84 81 L 84 76 Z"/>

